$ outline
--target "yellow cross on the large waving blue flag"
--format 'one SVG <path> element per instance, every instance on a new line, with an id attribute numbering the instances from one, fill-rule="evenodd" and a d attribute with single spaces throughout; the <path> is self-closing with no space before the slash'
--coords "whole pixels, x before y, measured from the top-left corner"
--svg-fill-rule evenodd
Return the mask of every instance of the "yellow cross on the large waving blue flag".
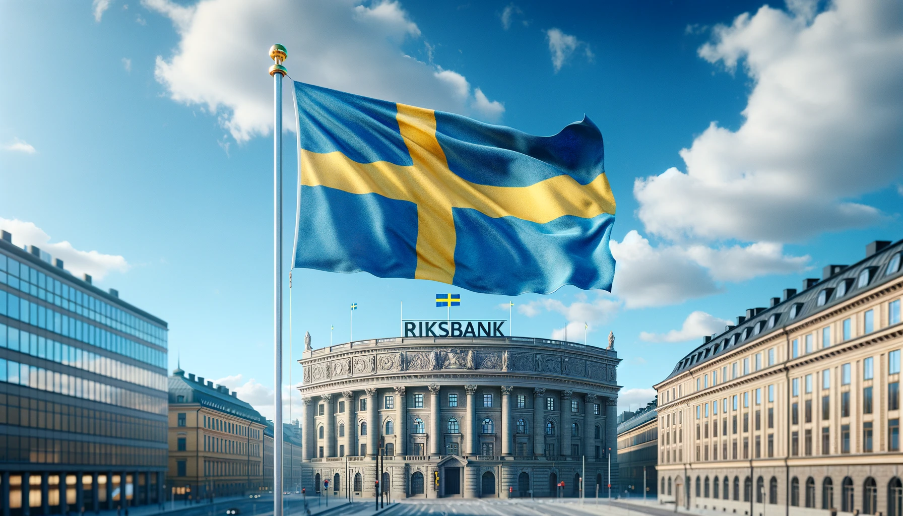
<path id="1" fill-rule="evenodd" d="M 564 215 L 583 218 L 614 214 L 606 174 L 582 185 L 557 175 L 529 186 L 471 183 L 449 170 L 436 139 L 433 109 L 397 104 L 396 120 L 413 165 L 377 161 L 361 164 L 340 152 L 301 150 L 301 183 L 349 193 L 377 193 L 417 205 L 417 267 L 414 277 L 452 283 L 455 228 L 452 208 L 470 208 L 492 217 L 513 216 L 544 224 Z"/>

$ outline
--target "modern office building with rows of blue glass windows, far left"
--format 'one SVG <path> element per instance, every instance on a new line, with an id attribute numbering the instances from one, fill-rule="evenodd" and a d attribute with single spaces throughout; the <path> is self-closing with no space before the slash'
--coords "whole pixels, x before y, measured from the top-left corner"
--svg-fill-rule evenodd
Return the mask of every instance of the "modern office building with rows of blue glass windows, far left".
<path id="1" fill-rule="evenodd" d="M 162 501 L 167 324 L 0 239 L 2 516 Z"/>

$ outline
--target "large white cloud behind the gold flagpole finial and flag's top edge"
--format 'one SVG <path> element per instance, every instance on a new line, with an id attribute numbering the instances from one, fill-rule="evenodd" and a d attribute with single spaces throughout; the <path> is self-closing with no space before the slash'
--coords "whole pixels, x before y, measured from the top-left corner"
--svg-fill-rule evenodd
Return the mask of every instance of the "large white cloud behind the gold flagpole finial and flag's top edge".
<path id="1" fill-rule="evenodd" d="M 281 42 L 296 80 L 377 99 L 492 119 L 501 104 L 471 93 L 461 74 L 417 61 L 401 43 L 421 37 L 397 2 L 369 6 L 354 0 L 317 2 L 208 0 L 176 5 L 143 0 L 172 20 L 180 36 L 169 58 L 158 56 L 155 75 L 169 96 L 219 116 L 238 141 L 272 127 L 272 64 L 267 49 Z M 457 77 L 452 76 L 455 74 Z M 286 126 L 294 113 L 285 95 Z"/>

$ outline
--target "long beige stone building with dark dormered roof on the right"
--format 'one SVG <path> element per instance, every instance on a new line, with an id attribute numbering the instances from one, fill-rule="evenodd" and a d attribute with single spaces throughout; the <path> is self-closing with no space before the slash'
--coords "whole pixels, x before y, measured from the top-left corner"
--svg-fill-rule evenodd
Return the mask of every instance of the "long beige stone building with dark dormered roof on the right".
<path id="1" fill-rule="evenodd" d="M 656 385 L 659 496 L 738 514 L 900 516 L 903 241 L 706 337 Z"/>

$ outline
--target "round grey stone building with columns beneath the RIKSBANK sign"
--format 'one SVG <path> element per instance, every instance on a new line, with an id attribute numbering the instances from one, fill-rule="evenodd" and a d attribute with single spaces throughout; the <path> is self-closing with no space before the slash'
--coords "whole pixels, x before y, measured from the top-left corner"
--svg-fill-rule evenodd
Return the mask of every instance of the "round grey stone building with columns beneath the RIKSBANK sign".
<path id="1" fill-rule="evenodd" d="M 308 349 L 300 362 L 308 489 L 329 479 L 334 493 L 374 496 L 380 448 L 395 498 L 554 496 L 560 482 L 575 496 L 584 456 L 594 496 L 597 483 L 607 492 L 609 459 L 618 471 L 613 349 L 396 337 Z"/>

